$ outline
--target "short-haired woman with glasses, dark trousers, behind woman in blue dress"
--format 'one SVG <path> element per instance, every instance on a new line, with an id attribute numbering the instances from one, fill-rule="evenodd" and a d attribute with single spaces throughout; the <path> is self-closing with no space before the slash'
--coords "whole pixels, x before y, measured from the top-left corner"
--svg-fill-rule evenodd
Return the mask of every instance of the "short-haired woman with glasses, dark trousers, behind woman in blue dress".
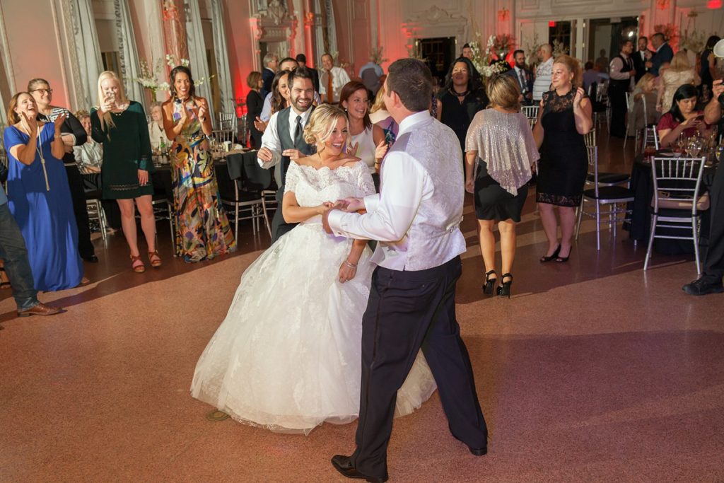
<path id="1" fill-rule="evenodd" d="M 78 229 L 78 252 L 85 261 L 96 263 L 98 257 L 93 243 L 90 241 L 90 224 L 88 223 L 88 211 L 85 207 L 85 191 L 83 190 L 83 178 L 75 162 L 73 154 L 74 146 L 82 146 L 88 135 L 83 129 L 80 121 L 64 107 L 54 106 L 53 89 L 45 79 L 33 79 L 28 83 L 28 92 L 35 98 L 38 106 L 38 120 L 42 122 L 54 122 L 60 116 L 65 117 L 61 126 L 63 146 L 63 164 L 68 176 L 70 196 L 73 203 L 73 213 Z"/>

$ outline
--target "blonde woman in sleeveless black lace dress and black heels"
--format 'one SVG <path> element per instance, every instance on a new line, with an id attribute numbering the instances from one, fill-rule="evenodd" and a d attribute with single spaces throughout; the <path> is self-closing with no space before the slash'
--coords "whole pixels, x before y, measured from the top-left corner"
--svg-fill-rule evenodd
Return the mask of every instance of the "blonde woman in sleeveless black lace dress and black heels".
<path id="1" fill-rule="evenodd" d="M 548 238 L 540 261 L 568 261 L 576 221 L 576 206 L 588 172 L 584 135 L 593 127 L 591 102 L 581 87 L 581 66 L 571 56 L 553 62 L 553 90 L 543 94 L 533 135 L 541 149 L 536 201 Z M 561 237 L 554 208 L 558 208 Z"/>

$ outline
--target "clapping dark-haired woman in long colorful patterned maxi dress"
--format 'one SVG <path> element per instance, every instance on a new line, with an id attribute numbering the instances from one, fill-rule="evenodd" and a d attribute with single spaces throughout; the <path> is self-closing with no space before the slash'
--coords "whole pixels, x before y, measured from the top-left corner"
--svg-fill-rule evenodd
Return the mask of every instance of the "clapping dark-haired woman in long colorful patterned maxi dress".
<path id="1" fill-rule="evenodd" d="M 171 98 L 164 102 L 164 130 L 171 140 L 171 180 L 176 253 L 184 261 L 213 259 L 236 243 L 214 177 L 209 104 L 195 96 L 188 67 L 171 71 Z"/>

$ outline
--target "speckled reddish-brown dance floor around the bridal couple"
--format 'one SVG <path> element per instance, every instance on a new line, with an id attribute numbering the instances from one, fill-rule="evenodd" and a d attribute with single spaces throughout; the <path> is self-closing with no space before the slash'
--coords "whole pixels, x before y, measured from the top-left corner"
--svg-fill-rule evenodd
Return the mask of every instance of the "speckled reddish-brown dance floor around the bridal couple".
<path id="1" fill-rule="evenodd" d="M 622 152 L 618 140 L 604 146 L 604 169 L 630 170 Z M 452 438 L 436 393 L 395 420 L 390 481 L 724 481 L 724 295 L 681 291 L 696 278 L 693 256 L 654 254 L 644 273 L 646 247 L 627 232 L 605 232 L 597 252 L 590 221 L 567 264 L 540 264 L 547 242 L 532 198 L 510 300 L 481 293 L 466 204 L 458 320 L 488 455 Z M 189 395 L 266 233 L 245 227 L 237 253 L 189 265 L 172 258 L 159 224 L 164 266 L 145 274 L 130 270 L 121 235 L 95 243 L 89 285 L 40 295 L 64 314 L 17 319 L 0 292 L 1 481 L 343 480 L 329 458 L 353 450 L 356 423 L 275 434 L 209 421 L 212 408 Z"/>

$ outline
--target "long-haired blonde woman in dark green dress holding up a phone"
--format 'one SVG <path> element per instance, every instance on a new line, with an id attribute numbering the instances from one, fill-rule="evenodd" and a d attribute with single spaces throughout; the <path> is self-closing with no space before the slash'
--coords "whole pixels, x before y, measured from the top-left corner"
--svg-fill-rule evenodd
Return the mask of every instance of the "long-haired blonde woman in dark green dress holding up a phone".
<path id="1" fill-rule="evenodd" d="M 98 105 L 97 109 L 90 110 L 90 124 L 93 139 L 103 143 L 103 197 L 118 202 L 123 235 L 131 251 L 131 267 L 134 272 L 142 273 L 146 266 L 138 251 L 134 200 L 146 235 L 148 261 L 154 268 L 161 266 L 151 204 L 153 162 L 146 114 L 143 106 L 126 98 L 118 77 L 109 70 L 98 77 Z"/>

